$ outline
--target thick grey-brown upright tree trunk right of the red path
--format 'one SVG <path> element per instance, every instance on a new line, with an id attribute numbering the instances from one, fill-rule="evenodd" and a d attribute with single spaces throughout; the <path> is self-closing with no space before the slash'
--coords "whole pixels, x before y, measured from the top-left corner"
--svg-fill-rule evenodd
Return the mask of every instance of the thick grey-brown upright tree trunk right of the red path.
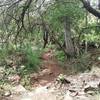
<path id="1" fill-rule="evenodd" d="M 64 17 L 64 31 L 65 51 L 69 56 L 73 57 L 75 56 L 75 49 L 71 39 L 70 19 L 67 17 Z"/>

